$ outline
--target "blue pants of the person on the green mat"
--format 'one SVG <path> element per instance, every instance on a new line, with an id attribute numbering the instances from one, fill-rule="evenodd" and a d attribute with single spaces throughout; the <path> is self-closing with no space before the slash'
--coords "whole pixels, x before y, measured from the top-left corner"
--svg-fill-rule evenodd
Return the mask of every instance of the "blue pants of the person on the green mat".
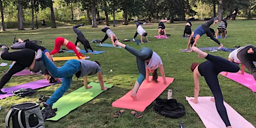
<path id="1" fill-rule="evenodd" d="M 69 88 L 73 74 L 80 69 L 81 64 L 78 60 L 70 59 L 67 60 L 63 66 L 57 68 L 56 65 L 49 60 L 44 53 L 42 53 L 41 59 L 52 77 L 62 78 L 61 86 L 58 87 L 46 101 L 47 104 L 52 106 L 52 104 L 56 102 Z"/>

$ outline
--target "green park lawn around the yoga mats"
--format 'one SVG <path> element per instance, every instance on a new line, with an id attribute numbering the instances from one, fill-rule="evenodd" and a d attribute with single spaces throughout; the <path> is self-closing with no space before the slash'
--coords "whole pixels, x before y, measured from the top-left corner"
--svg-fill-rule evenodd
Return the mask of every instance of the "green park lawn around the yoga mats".
<path id="1" fill-rule="evenodd" d="M 192 30 L 195 29 L 202 22 L 192 22 Z M 184 122 L 186 127 L 204 127 L 202 121 L 196 112 L 187 103 L 185 96 L 193 96 L 193 78 L 190 71 L 192 62 L 202 62 L 205 59 L 198 59 L 194 52 L 181 52 L 181 48 L 186 48 L 188 38 L 182 38 L 185 23 L 165 23 L 167 33 L 171 34 L 170 39 L 156 39 L 153 35 L 157 34 L 157 23 L 148 23 L 143 25 L 143 28 L 148 32 L 148 38 L 151 42 L 146 42 L 136 45 L 135 42 L 124 42 L 136 49 L 141 47 L 150 47 L 162 59 L 165 75 L 167 77 L 174 77 L 174 81 L 163 91 L 161 98 L 167 98 L 167 89 L 173 90 L 173 98 L 185 105 L 186 114 L 180 118 L 167 118 L 155 113 L 152 108 L 143 113 L 143 117 L 137 119 L 130 114 L 130 110 L 125 109 L 125 112 L 118 118 L 114 118 L 112 114 L 119 108 L 111 106 L 111 103 L 123 96 L 126 92 L 132 89 L 133 84 L 138 76 L 135 57 L 123 48 L 112 47 L 97 47 L 96 43 L 90 43 L 95 50 L 104 50 L 101 54 L 86 54 L 90 56 L 89 60 L 98 60 L 101 64 L 101 71 L 105 83 L 113 84 L 114 86 L 91 101 L 79 106 L 77 109 L 71 111 L 58 121 L 45 121 L 46 127 L 178 127 L 178 122 Z M 92 39 L 102 39 L 104 33 L 100 31 L 103 25 L 97 28 L 89 26 L 80 27 L 85 37 L 90 41 Z M 216 29 L 216 26 L 211 26 Z M 134 24 L 118 25 L 110 28 L 114 31 L 116 36 L 122 40 L 124 38 L 132 39 L 136 27 Z M 227 48 L 233 48 L 235 45 L 255 45 L 254 29 L 256 28 L 256 20 L 236 20 L 228 21 L 227 35 L 225 39 L 219 41 Z M 22 39 L 36 39 L 41 40 L 39 43 L 45 46 L 48 50 L 52 50 L 54 46 L 54 39 L 57 36 L 62 36 L 74 42 L 76 35 L 70 28 L 43 28 L 35 30 L 24 31 L 2 31 L 0 33 L 0 43 L 10 46 L 13 41 L 13 36 Z M 138 36 L 139 37 L 139 36 Z M 137 37 L 137 39 L 138 39 Z M 107 39 L 105 43 L 110 43 Z M 217 46 L 217 43 L 211 39 L 206 39 L 205 35 L 199 39 L 198 47 Z M 65 47 L 63 47 L 65 48 Z M 82 48 L 82 45 L 80 45 Z M 14 50 L 10 50 L 14 51 Z M 212 52 L 213 55 L 219 55 L 224 58 L 228 57 L 229 52 L 217 51 Z M 59 53 L 54 56 L 70 56 L 73 53 Z M 1 62 L 11 61 L 2 60 Z M 56 61 L 57 66 L 61 66 L 64 61 Z M 0 67 L 0 76 L 8 69 L 8 66 Z M 112 69 L 113 71 L 110 71 Z M 245 70 L 248 72 L 248 70 Z M 158 71 L 159 72 L 159 71 Z M 159 73 L 160 74 L 160 73 Z M 232 106 L 245 119 L 256 126 L 256 94 L 247 87 L 236 83 L 223 76 L 218 76 L 220 87 L 223 93 L 224 101 Z M 42 79 L 41 75 L 27 75 L 27 76 L 13 76 L 4 87 L 14 86 L 21 83 L 26 83 Z M 88 81 L 97 82 L 96 76 L 89 76 Z M 44 88 L 36 89 L 36 93 L 32 96 L 19 98 L 17 96 L 10 96 L 0 99 L 0 127 L 4 127 L 4 119 L 10 105 L 21 103 L 25 101 L 37 102 L 39 95 L 51 95 L 60 84 L 50 85 Z M 82 86 L 82 78 L 73 76 L 73 81 L 67 93 Z M 138 91 L 139 93 L 139 91 Z M 200 78 L 200 92 L 199 96 L 212 96 L 212 93 L 206 84 L 203 77 Z"/>

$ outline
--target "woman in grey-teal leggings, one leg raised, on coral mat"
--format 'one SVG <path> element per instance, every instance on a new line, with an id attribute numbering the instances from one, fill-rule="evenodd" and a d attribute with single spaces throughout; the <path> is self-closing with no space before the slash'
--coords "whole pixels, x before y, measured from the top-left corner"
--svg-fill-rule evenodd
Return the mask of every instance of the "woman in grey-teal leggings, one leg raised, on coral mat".
<path id="1" fill-rule="evenodd" d="M 133 100 L 138 100 L 136 94 L 137 94 L 138 88 L 139 88 L 140 84 L 142 83 L 142 81 L 144 80 L 144 78 L 146 78 L 147 82 L 151 82 L 151 81 L 156 82 L 156 83 L 158 82 L 157 81 L 157 77 L 158 77 L 157 68 L 160 69 L 163 83 L 167 84 L 163 66 L 162 66 L 162 60 L 158 54 L 156 54 L 154 51 L 152 51 L 152 49 L 150 49 L 148 47 L 142 47 L 140 50 L 136 50 L 130 46 L 127 46 L 127 45 L 119 42 L 118 40 L 115 41 L 115 44 L 118 46 L 121 46 L 122 48 L 126 49 L 131 54 L 136 56 L 136 62 L 137 62 L 139 76 L 134 84 L 132 93 L 130 94 L 130 96 L 132 97 Z M 153 77 L 151 80 L 148 79 L 149 72 L 153 73 L 152 74 Z"/>

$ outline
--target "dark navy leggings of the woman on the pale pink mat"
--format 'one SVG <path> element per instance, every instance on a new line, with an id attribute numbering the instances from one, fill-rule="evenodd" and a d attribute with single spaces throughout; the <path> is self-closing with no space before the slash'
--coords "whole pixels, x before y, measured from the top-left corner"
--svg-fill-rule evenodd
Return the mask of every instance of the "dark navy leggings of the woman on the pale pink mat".
<path id="1" fill-rule="evenodd" d="M 239 70 L 239 66 L 220 56 L 208 54 L 205 58 L 207 61 L 202 67 L 204 79 L 214 96 L 219 116 L 224 121 L 225 125 L 229 126 L 230 122 L 227 117 L 226 108 L 223 104 L 223 95 L 219 87 L 217 75 L 221 71 L 237 72 Z"/>

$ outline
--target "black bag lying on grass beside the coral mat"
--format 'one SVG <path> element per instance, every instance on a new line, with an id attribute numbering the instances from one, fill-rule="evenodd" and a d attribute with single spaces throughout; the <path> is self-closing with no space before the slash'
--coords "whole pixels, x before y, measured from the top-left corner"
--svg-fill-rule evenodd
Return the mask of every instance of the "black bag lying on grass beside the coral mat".
<path id="1" fill-rule="evenodd" d="M 153 110 L 166 117 L 178 118 L 186 113 L 183 104 L 177 102 L 176 99 L 156 98 Z"/>

